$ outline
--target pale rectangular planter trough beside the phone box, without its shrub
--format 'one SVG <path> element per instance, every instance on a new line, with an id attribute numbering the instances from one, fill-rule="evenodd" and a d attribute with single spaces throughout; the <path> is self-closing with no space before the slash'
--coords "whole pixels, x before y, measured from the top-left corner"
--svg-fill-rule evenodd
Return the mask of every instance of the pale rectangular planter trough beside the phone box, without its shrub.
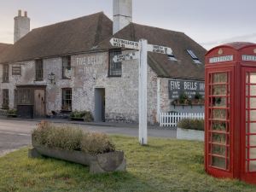
<path id="1" fill-rule="evenodd" d="M 177 127 L 177 139 L 203 142 L 205 139 L 205 131 L 189 130 Z"/>

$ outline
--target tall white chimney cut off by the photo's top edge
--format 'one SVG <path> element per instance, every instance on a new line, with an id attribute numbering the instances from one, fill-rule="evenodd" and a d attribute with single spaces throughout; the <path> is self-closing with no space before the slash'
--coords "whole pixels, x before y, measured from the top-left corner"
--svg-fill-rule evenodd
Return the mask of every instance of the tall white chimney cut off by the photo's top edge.
<path id="1" fill-rule="evenodd" d="M 113 0 L 113 34 L 132 22 L 132 0 Z"/>

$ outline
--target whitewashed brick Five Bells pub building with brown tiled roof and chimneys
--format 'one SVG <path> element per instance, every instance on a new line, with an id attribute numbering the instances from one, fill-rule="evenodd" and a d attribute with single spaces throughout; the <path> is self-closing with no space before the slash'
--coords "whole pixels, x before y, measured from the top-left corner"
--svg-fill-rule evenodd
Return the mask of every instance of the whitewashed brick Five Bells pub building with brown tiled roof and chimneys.
<path id="1" fill-rule="evenodd" d="M 32 31 L 19 11 L 15 44 L 0 52 L 1 108 L 21 118 L 86 110 L 95 121 L 137 123 L 139 61 L 114 62 L 132 50 L 111 38 L 172 48 L 148 52 L 148 123 L 160 113 L 204 111 L 206 49 L 183 32 L 133 23 L 131 0 L 113 0 L 113 20 L 100 12 Z"/>

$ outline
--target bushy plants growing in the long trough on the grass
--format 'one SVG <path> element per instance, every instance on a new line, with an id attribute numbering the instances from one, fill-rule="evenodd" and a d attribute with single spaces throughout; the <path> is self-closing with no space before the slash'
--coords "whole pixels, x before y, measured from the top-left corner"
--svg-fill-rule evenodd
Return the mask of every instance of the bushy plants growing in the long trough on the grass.
<path id="1" fill-rule="evenodd" d="M 106 134 L 85 132 L 68 125 L 57 127 L 47 121 L 42 121 L 32 131 L 32 139 L 35 143 L 48 148 L 84 151 L 89 154 L 102 154 L 115 150 Z"/>

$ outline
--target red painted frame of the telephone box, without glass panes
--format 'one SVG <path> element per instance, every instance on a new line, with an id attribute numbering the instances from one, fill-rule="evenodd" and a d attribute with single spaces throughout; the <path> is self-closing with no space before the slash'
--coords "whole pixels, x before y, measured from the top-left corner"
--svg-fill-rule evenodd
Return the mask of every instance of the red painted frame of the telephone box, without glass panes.
<path id="1" fill-rule="evenodd" d="M 233 55 L 233 61 L 223 61 L 213 64 L 209 62 L 209 59 L 212 57 L 224 55 Z M 246 143 L 246 136 L 248 135 L 246 131 L 250 126 L 249 123 L 246 122 L 246 107 L 248 109 L 248 120 L 250 120 L 249 109 L 252 109 L 249 105 L 249 99 L 247 99 L 248 103 L 246 105 L 246 97 L 250 98 L 246 96 L 246 85 L 249 85 L 246 84 L 246 74 L 252 72 L 256 73 L 256 61 L 242 61 L 242 55 L 254 55 L 256 58 L 256 44 L 225 44 L 209 50 L 206 55 L 205 169 L 207 173 L 214 177 L 239 178 L 247 183 L 256 183 L 256 171 L 248 172 L 246 159 L 249 153 L 246 148 L 250 146 L 248 142 Z M 211 96 L 210 92 L 210 89 L 212 89 L 210 77 L 213 73 L 230 73 L 230 106 L 226 105 L 226 108 L 224 108 L 225 110 L 230 110 L 230 119 L 226 119 L 227 122 L 230 122 L 230 167 L 227 169 L 213 167 L 211 160 L 208 158 L 208 156 L 211 155 L 211 148 L 208 143 L 211 142 L 210 115 L 212 107 L 210 104 L 214 96 Z M 253 97 L 256 98 L 256 96 Z M 228 98 L 228 96 L 226 96 L 226 98 Z M 253 109 L 255 109 L 256 112 L 256 108 Z M 253 135 L 256 135 L 256 131 Z M 248 135 L 248 137 L 250 137 L 250 135 Z M 253 146 L 253 148 L 256 148 L 256 146 Z M 227 157 L 227 153 L 225 156 Z"/>

